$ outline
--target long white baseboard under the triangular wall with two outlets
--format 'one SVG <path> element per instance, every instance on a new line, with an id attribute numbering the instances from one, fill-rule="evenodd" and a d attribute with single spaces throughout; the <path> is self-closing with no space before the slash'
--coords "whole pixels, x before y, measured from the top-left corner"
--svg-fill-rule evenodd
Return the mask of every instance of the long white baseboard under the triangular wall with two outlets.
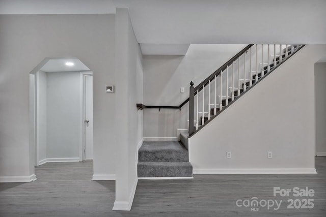
<path id="1" fill-rule="evenodd" d="M 314 168 L 194 169 L 194 174 L 317 174 Z"/>

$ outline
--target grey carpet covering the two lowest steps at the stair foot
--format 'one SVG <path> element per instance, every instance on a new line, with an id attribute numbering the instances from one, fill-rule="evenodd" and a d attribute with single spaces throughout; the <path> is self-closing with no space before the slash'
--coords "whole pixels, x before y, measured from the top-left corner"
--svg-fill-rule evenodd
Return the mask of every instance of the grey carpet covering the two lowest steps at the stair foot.
<path id="1" fill-rule="evenodd" d="M 138 177 L 192 177 L 188 150 L 178 141 L 144 141 L 139 149 Z"/>

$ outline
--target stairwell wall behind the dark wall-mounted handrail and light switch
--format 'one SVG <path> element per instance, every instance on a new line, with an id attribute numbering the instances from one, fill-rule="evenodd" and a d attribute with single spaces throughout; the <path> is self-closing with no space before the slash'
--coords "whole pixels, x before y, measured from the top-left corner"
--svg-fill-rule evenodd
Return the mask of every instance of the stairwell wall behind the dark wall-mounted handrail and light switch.
<path id="1" fill-rule="evenodd" d="M 195 86 L 246 45 L 192 44 L 185 56 L 144 55 L 144 104 L 179 106 Z M 180 93 L 180 87 L 185 93 Z M 176 137 L 187 129 L 188 104 L 178 109 L 145 109 L 144 137 Z"/>

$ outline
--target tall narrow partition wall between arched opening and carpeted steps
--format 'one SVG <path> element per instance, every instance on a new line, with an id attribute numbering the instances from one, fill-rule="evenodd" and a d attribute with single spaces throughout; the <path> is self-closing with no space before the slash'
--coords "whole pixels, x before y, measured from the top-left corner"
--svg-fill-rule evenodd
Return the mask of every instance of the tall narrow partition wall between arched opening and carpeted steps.
<path id="1" fill-rule="evenodd" d="M 116 200 L 114 210 L 130 210 L 137 186 L 137 146 L 142 140 L 142 54 L 126 8 L 116 14 Z"/>

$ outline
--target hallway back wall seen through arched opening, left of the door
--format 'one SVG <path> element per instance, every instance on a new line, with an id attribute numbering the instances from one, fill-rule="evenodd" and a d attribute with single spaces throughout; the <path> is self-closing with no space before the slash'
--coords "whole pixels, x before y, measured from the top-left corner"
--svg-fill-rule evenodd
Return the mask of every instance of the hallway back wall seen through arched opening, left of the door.
<path id="1" fill-rule="evenodd" d="M 79 72 L 47 73 L 47 158 L 79 158 Z"/>

